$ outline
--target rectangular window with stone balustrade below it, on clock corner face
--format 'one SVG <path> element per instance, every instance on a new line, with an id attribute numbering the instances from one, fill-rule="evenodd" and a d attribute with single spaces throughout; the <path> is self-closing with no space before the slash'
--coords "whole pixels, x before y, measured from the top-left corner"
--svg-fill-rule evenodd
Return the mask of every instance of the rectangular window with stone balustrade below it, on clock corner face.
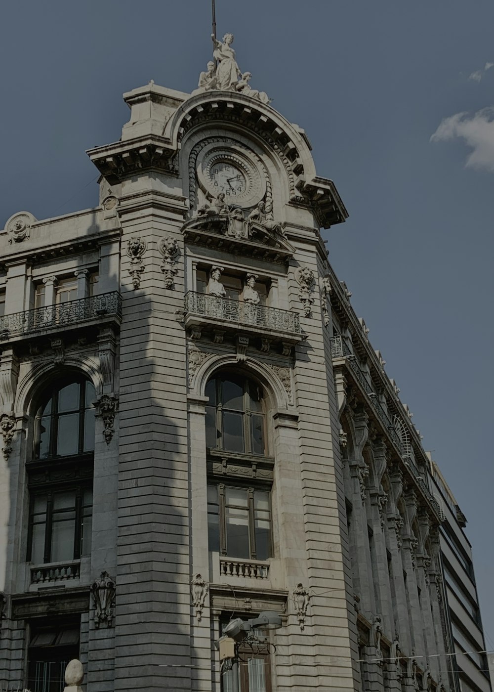
<path id="1" fill-rule="evenodd" d="M 271 557 L 269 495 L 243 486 L 208 485 L 210 551 L 247 560 Z"/>

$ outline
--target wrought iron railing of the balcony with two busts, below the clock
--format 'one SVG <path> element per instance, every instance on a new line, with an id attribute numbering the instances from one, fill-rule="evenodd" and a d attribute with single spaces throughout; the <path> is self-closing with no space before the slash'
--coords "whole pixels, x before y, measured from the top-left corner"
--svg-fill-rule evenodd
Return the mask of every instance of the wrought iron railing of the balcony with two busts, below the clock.
<path id="1" fill-rule="evenodd" d="M 235 322 L 237 325 L 262 327 L 275 331 L 300 334 L 298 313 L 266 305 L 253 305 L 216 295 L 189 291 L 185 295 L 185 313 L 205 316 L 216 320 Z"/>

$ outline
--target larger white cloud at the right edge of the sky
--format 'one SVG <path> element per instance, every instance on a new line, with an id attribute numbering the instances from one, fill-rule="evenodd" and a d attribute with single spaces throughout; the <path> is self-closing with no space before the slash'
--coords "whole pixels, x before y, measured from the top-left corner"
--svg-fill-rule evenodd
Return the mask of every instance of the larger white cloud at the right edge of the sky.
<path id="1" fill-rule="evenodd" d="M 430 141 L 441 142 L 457 137 L 464 139 L 466 145 L 473 149 L 466 159 L 466 167 L 494 172 L 494 107 L 483 108 L 474 116 L 456 113 L 445 118 Z"/>

